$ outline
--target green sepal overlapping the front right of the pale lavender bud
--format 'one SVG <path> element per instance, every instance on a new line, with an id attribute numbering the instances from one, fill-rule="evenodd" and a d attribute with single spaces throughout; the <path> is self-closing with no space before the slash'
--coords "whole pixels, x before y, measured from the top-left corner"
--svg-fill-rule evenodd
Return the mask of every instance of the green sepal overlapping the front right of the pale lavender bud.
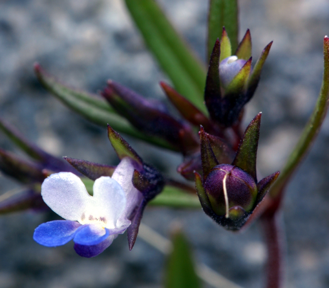
<path id="1" fill-rule="evenodd" d="M 238 98 L 243 90 L 246 88 L 250 71 L 252 68 L 252 57 L 242 66 L 238 73 L 234 76 L 230 84 L 225 89 L 225 97 Z"/>

